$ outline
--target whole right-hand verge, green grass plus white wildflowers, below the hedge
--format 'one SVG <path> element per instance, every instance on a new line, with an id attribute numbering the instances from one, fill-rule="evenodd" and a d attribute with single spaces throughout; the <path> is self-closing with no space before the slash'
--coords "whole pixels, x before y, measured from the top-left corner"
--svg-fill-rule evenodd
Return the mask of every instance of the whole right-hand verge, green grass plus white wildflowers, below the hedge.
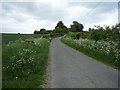
<path id="1" fill-rule="evenodd" d="M 119 50 L 113 42 L 111 44 L 105 41 L 95 42 L 88 39 L 75 40 L 70 36 L 65 36 L 61 41 L 106 65 L 112 66 L 113 68 L 119 67 Z"/>

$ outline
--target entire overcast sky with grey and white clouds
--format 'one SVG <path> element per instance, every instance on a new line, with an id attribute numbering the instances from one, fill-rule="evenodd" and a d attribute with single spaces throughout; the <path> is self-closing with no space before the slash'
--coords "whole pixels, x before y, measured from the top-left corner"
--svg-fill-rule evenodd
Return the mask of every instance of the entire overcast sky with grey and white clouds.
<path id="1" fill-rule="evenodd" d="M 84 25 L 115 25 L 118 2 L 80 2 L 79 0 L 40 0 L 39 2 L 2 2 L 0 25 L 3 33 L 33 33 L 52 30 L 58 21 L 69 27 L 73 21 Z"/>

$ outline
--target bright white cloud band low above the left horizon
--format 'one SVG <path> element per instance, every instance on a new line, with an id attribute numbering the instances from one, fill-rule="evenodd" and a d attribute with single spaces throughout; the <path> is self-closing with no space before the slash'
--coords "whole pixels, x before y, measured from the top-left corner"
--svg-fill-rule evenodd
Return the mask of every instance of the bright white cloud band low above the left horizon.
<path id="1" fill-rule="evenodd" d="M 47 20 L 36 20 L 36 19 L 29 19 L 25 22 L 16 21 L 13 18 L 2 18 L 2 32 L 8 33 L 33 33 L 34 30 L 40 30 L 40 28 L 52 28 L 55 26 L 54 22 L 50 22 Z M 5 30 L 5 31 L 4 31 Z"/>

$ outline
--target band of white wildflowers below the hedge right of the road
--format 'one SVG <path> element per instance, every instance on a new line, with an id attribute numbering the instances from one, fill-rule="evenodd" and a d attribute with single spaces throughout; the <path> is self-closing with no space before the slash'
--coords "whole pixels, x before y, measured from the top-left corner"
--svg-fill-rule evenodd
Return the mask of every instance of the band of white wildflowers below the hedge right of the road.
<path id="1" fill-rule="evenodd" d="M 69 41 L 70 43 L 76 43 L 81 48 L 90 49 L 94 51 L 99 51 L 100 53 L 105 53 L 106 55 L 110 55 L 110 53 L 115 56 L 117 59 L 119 57 L 119 50 L 117 49 L 118 43 L 114 41 L 98 41 L 95 42 L 93 40 L 89 39 L 79 39 L 79 40 L 73 40 L 72 38 L 65 37 L 66 41 Z"/>

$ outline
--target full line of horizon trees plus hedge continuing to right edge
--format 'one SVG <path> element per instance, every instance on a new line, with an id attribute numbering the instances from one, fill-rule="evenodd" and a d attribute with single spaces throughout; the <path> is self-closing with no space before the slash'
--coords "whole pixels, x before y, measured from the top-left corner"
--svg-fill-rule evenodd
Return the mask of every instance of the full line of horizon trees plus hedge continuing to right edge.
<path id="1" fill-rule="evenodd" d="M 73 21 L 70 28 L 67 28 L 62 21 L 59 21 L 55 26 L 55 29 L 46 30 L 42 28 L 40 31 L 35 30 L 34 34 L 50 34 L 51 36 L 69 34 L 74 39 L 88 38 L 95 40 L 96 42 L 99 40 L 120 42 L 120 23 L 111 27 L 101 27 L 98 25 L 94 28 L 89 28 L 88 31 L 83 31 L 83 28 L 83 24 L 78 21 Z"/>

